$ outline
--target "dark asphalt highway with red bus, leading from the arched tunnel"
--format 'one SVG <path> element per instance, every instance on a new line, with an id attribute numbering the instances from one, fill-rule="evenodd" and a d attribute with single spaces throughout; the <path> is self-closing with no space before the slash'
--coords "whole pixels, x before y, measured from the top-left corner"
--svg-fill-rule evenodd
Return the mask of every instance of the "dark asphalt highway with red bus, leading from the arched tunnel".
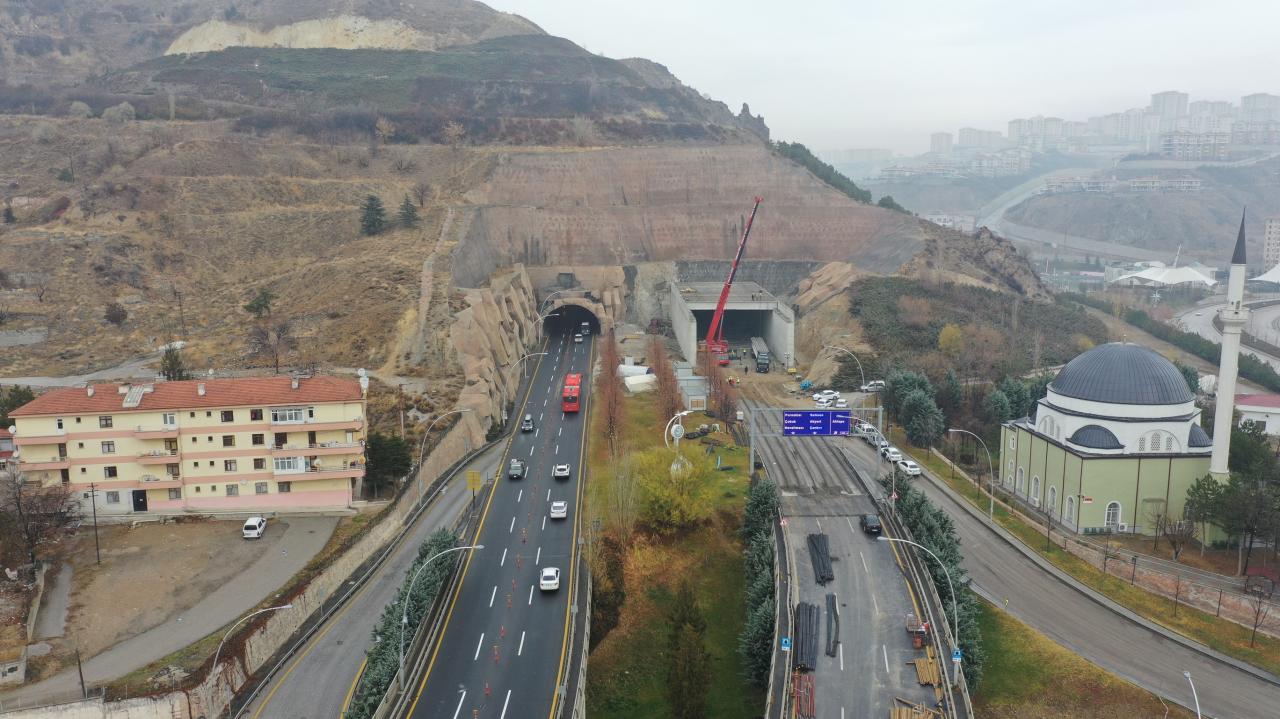
<path id="1" fill-rule="evenodd" d="M 417 682 L 410 716 L 419 719 L 506 719 L 549 716 L 563 682 L 570 596 L 576 572 L 573 542 L 591 384 L 594 335 L 577 344 L 553 334 L 531 390 L 512 420 L 529 413 L 534 432 L 517 432 L 509 457 L 529 463 L 524 480 L 506 471 L 481 516 L 477 542 L 447 610 L 439 644 Z M 561 412 L 568 372 L 582 374 L 582 411 Z M 571 467 L 568 480 L 552 477 L 554 464 Z M 507 457 L 500 462 L 507 466 Z M 568 519 L 547 517 L 553 500 L 568 502 Z M 561 568 L 557 591 L 539 590 L 539 572 Z"/>

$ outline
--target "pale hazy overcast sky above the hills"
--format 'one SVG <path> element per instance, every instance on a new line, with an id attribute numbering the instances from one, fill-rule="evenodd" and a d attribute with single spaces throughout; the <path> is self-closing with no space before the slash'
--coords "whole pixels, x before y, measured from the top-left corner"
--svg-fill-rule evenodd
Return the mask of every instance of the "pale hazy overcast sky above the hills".
<path id="1" fill-rule="evenodd" d="M 1280 1 L 489 0 L 609 58 L 648 58 L 774 138 L 928 150 L 928 134 L 1085 119 L 1152 92 L 1280 93 Z"/>

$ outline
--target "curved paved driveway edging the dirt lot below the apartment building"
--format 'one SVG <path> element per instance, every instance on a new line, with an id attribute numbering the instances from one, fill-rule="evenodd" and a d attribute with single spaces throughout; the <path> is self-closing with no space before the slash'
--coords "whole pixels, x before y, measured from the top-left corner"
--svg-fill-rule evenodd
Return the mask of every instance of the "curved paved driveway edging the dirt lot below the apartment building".
<path id="1" fill-rule="evenodd" d="M 84 684 L 123 677 L 234 622 L 300 572 L 329 541 L 338 518 L 291 517 L 279 521 L 275 527 L 282 525 L 287 528 L 278 548 L 259 558 L 233 581 L 179 615 L 84 661 Z M 122 591 L 128 589 L 122 587 Z M 42 682 L 0 693 L 0 706 L 78 693 L 79 677 L 76 669 L 69 669 Z"/>

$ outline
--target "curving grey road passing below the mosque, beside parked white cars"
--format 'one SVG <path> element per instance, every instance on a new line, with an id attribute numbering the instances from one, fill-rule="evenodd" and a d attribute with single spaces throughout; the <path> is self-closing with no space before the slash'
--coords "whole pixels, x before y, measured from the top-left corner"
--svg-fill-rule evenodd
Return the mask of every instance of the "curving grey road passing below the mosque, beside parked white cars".
<path id="1" fill-rule="evenodd" d="M 865 443 L 844 440 L 868 471 L 876 454 Z M 915 486 L 955 522 L 964 565 L 973 585 L 1051 640 L 1166 700 L 1192 705 L 1183 672 L 1190 672 L 1204 716 L 1263 719 L 1276 716 L 1280 686 L 1206 656 L 1098 604 L 1046 572 L 974 518 L 929 480 Z M 961 500 L 963 502 L 963 500 Z"/>

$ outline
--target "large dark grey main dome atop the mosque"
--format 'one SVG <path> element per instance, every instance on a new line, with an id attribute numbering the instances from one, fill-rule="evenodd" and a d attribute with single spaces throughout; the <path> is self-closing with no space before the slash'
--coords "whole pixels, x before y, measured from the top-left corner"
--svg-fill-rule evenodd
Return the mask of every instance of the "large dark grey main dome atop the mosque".
<path id="1" fill-rule="evenodd" d="M 1194 399 L 1172 362 L 1140 344 L 1112 342 L 1076 356 L 1050 389 L 1110 404 L 1181 404 Z"/>

